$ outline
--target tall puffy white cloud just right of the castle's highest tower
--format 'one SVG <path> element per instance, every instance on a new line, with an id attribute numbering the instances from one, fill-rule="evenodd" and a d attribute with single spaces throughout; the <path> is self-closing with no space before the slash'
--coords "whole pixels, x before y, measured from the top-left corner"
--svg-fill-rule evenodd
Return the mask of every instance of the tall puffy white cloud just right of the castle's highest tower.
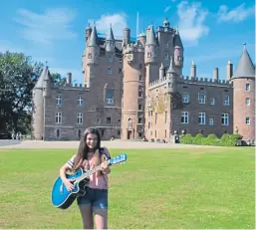
<path id="1" fill-rule="evenodd" d="M 180 36 L 187 46 L 196 45 L 201 37 L 209 33 L 209 28 L 205 25 L 208 11 L 202 9 L 201 3 L 189 5 L 182 1 L 177 5 L 177 14 Z"/>

